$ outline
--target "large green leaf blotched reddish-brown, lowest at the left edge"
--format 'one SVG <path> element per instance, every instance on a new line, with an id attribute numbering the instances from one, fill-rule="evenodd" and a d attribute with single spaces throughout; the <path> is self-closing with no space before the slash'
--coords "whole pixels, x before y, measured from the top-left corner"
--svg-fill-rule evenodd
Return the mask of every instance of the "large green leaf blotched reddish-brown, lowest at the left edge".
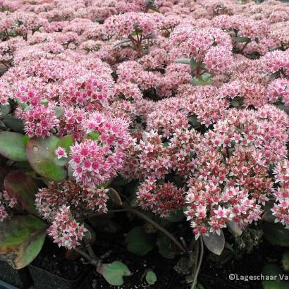
<path id="1" fill-rule="evenodd" d="M 32 262 L 42 249 L 46 224 L 36 216 L 18 215 L 0 223 L 0 259 L 14 269 Z"/>

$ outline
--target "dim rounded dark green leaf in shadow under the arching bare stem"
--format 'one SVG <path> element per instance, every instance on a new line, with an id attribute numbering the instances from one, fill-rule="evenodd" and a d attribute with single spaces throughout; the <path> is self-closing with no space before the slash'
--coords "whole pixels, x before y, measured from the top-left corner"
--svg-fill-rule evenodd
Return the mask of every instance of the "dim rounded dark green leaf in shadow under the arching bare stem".
<path id="1" fill-rule="evenodd" d="M 154 248 L 152 235 L 147 235 L 142 226 L 137 226 L 128 232 L 125 242 L 128 251 L 144 256 Z"/>

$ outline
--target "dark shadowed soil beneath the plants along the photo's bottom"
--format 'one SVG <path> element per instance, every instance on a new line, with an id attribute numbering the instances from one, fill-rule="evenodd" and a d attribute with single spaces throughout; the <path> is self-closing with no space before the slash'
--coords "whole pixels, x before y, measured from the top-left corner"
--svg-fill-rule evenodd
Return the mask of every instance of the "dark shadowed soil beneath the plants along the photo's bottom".
<path id="1" fill-rule="evenodd" d="M 157 248 L 144 257 L 138 257 L 126 250 L 124 240 L 125 233 L 128 232 L 129 221 L 126 218 L 125 214 L 119 214 L 118 223 L 111 220 L 112 223 L 106 224 L 107 219 L 106 221 L 100 220 L 100 224 L 98 223 L 99 220 L 90 223 L 90 226 L 96 228 L 97 231 L 97 242 L 94 245 L 94 252 L 97 256 L 111 251 L 109 257 L 104 259 L 104 263 L 121 261 L 133 273 L 132 276 L 124 277 L 124 285 L 122 286 L 109 285 L 92 266 L 83 265 L 80 261 L 66 259 L 66 251 L 50 240 L 45 243 L 42 252 L 32 264 L 68 280 L 75 280 L 87 271 L 87 275 L 90 274 L 90 277 L 82 283 L 80 289 L 190 289 L 190 285 L 185 282 L 185 276 L 173 269 L 179 257 L 166 259 L 159 254 Z M 133 228 L 135 225 L 142 224 L 142 221 L 130 220 L 129 225 L 132 226 L 130 228 Z M 178 235 L 182 230 L 187 231 L 187 228 L 178 229 L 174 231 L 175 235 Z M 265 264 L 273 262 L 279 265 L 281 256 L 285 251 L 288 251 L 288 248 L 276 247 L 263 240 L 259 247 L 254 248 L 252 254 L 243 254 L 240 259 L 232 258 L 225 262 L 226 256 L 218 258 L 205 250 L 198 281 L 204 289 L 262 289 L 262 282 L 260 281 L 230 281 L 228 276 L 230 273 L 237 273 L 239 276 L 259 275 Z M 155 285 L 149 285 L 145 281 L 144 276 L 148 269 L 152 269 L 156 273 L 158 280 Z"/>

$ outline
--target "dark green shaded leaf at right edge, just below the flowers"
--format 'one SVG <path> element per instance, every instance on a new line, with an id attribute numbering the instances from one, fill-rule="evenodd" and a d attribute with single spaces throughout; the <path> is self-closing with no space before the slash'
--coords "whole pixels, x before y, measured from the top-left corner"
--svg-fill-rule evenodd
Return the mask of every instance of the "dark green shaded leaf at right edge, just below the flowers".
<path id="1" fill-rule="evenodd" d="M 263 223 L 264 238 L 276 246 L 289 246 L 289 230 L 281 223 Z"/>

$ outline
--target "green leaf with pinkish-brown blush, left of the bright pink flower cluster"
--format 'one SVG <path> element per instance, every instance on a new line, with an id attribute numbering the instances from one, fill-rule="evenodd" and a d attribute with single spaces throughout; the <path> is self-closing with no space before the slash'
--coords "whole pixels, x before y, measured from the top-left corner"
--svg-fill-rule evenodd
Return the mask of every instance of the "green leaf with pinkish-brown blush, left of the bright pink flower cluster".
<path id="1" fill-rule="evenodd" d="M 30 166 L 42 177 L 50 180 L 64 180 L 67 172 L 62 166 L 54 163 L 55 149 L 59 143 L 59 138 L 33 137 L 27 144 L 27 159 Z"/>

